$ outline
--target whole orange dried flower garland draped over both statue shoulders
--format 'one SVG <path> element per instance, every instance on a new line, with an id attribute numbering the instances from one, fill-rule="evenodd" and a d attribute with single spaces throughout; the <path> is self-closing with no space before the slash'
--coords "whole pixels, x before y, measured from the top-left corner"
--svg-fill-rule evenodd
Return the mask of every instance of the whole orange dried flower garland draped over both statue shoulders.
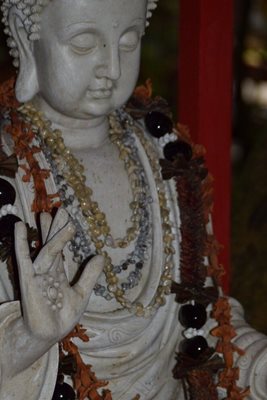
<path id="1" fill-rule="evenodd" d="M 5 125 L 7 133 L 12 135 L 14 141 L 14 150 L 18 159 L 25 160 L 25 164 L 20 164 L 25 172 L 23 176 L 24 182 L 29 182 L 32 178 L 35 188 L 35 197 L 32 204 L 32 211 L 35 213 L 48 211 L 54 207 L 60 206 L 59 197 L 57 194 L 49 195 L 46 191 L 45 180 L 50 176 L 50 171 L 41 169 L 38 161 L 35 158 L 35 154 L 41 151 L 40 147 L 33 145 L 33 139 L 35 133 L 32 131 L 31 126 L 25 121 L 22 121 L 16 112 L 18 103 L 14 99 L 14 79 L 5 83 L 0 87 L 0 106 L 3 110 L 9 110 L 10 124 Z M 167 109 L 166 103 L 161 99 L 151 99 L 152 86 L 151 82 L 147 81 L 145 87 L 138 88 L 135 91 L 133 99 L 129 102 L 128 112 L 134 116 L 140 117 L 145 115 L 148 110 L 153 107 L 158 109 Z M 188 133 L 188 129 L 180 124 L 177 125 L 179 131 L 179 138 L 189 143 L 193 150 L 193 160 L 201 159 L 205 155 L 205 150 L 202 146 L 194 145 Z M 203 161 L 204 162 L 204 161 Z M 166 164 L 165 164 L 166 165 Z M 171 176 L 175 176 L 175 168 L 177 165 L 169 165 L 169 172 Z M 172 170 L 173 168 L 173 170 Z M 164 176 L 164 168 L 163 168 Z M 201 182 L 200 182 L 201 181 Z M 212 212 L 213 200 L 212 200 L 212 178 L 207 175 L 205 179 L 201 179 L 196 182 L 197 190 L 200 190 L 199 195 L 195 197 L 197 202 L 197 210 L 200 218 L 203 217 L 205 224 L 208 223 L 210 214 Z M 177 183 L 178 185 L 178 183 Z M 189 185 L 190 186 L 190 185 Z M 188 182 L 183 179 L 179 183 L 179 198 L 183 202 L 187 201 L 186 191 L 188 190 Z M 191 207 L 190 204 L 187 204 Z M 183 208 L 182 208 L 183 209 Z M 196 221 L 197 223 L 197 221 Z M 208 235 L 204 227 L 198 227 L 201 229 L 202 242 L 198 243 L 196 252 L 192 254 L 190 246 L 186 241 L 182 243 L 182 259 L 181 259 L 181 276 L 187 284 L 197 284 L 199 290 L 199 296 L 206 296 L 211 302 L 213 302 L 212 317 L 217 321 L 218 326 L 211 331 L 211 334 L 218 338 L 216 351 L 220 353 L 224 360 L 224 368 L 218 373 L 217 386 L 225 388 L 227 392 L 226 400 L 243 400 L 248 394 L 249 389 L 241 389 L 237 386 L 237 380 L 239 377 L 238 368 L 234 367 L 234 353 L 243 354 L 243 351 L 233 345 L 232 339 L 236 336 L 236 332 L 231 325 L 231 308 L 228 299 L 225 297 L 217 297 L 217 288 L 220 284 L 220 279 L 223 274 L 223 268 L 218 263 L 217 254 L 219 251 L 219 245 L 213 235 Z M 183 238 L 183 227 L 182 227 L 182 238 Z M 184 239 L 184 238 L 183 238 Z M 192 239 L 192 238 L 191 238 Z M 190 240 L 191 240 L 190 239 Z M 207 257 L 209 264 L 205 266 L 203 258 Z M 188 262 L 190 260 L 190 262 Z M 195 268 L 192 268 L 195 265 Z M 210 276 L 215 284 L 215 288 L 204 287 L 206 277 Z M 176 285 L 176 286 L 175 286 Z M 182 284 L 174 283 L 174 292 L 177 287 Z M 177 289 L 177 290 L 178 290 Z M 178 293 L 178 292 L 177 292 Z M 190 291 L 184 292 L 185 296 L 191 296 Z M 176 295 L 177 296 L 177 295 Z M 109 390 L 103 390 L 102 395 L 97 392 L 97 389 L 105 387 L 107 382 L 98 381 L 95 377 L 94 372 L 91 370 L 91 366 L 85 365 L 79 354 L 77 346 L 72 342 L 72 338 L 79 337 L 81 340 L 88 341 L 89 338 L 85 334 L 85 330 L 77 325 L 76 328 L 62 341 L 62 351 L 73 356 L 77 371 L 74 373 L 74 385 L 78 393 L 79 400 L 89 398 L 90 400 L 111 400 L 112 396 Z M 214 362 L 212 364 L 212 361 Z M 213 368 L 216 371 L 221 368 L 221 363 L 218 358 L 213 357 L 210 365 L 209 360 L 203 360 L 199 366 L 193 366 L 187 373 L 187 382 L 190 384 L 189 394 L 192 400 L 206 400 L 207 393 L 208 398 L 211 400 L 217 400 L 217 390 L 210 369 Z M 137 400 L 139 396 L 135 398 Z"/>

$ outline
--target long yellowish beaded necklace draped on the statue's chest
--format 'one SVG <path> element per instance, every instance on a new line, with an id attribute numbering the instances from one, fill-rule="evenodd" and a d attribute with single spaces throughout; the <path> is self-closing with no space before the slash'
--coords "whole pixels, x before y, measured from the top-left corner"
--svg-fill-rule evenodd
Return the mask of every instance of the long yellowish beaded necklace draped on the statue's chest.
<path id="1" fill-rule="evenodd" d="M 58 129 L 53 130 L 51 123 L 43 119 L 42 113 L 37 111 L 32 104 L 23 105 L 20 108 L 21 114 L 33 125 L 37 134 L 44 141 L 45 145 L 49 149 L 53 160 L 56 163 L 64 164 L 62 175 L 73 189 L 76 198 L 79 201 L 80 208 L 83 216 L 85 217 L 88 225 L 91 240 L 94 244 L 97 254 L 104 256 L 105 266 L 104 273 L 107 282 L 107 289 L 111 296 L 113 296 L 123 308 L 128 309 L 129 312 L 134 313 L 136 316 L 150 316 L 160 306 L 165 304 L 165 295 L 170 294 L 171 287 L 171 272 L 173 269 L 173 255 L 175 253 L 172 242 L 174 236 L 172 235 L 172 226 L 170 222 L 170 212 L 167 206 L 167 198 L 165 194 L 165 187 L 162 182 L 160 166 L 158 162 L 157 154 L 151 143 L 142 134 L 141 128 L 137 125 L 133 125 L 133 122 L 129 116 L 126 118 L 124 114 L 123 124 L 130 129 L 132 127 L 134 133 L 141 141 L 142 145 L 146 150 L 147 157 L 150 161 L 150 165 L 154 174 L 156 187 L 158 191 L 158 199 L 160 205 L 160 214 L 163 227 L 163 242 L 164 242 L 164 269 L 160 277 L 159 285 L 156 293 L 151 302 L 144 306 L 141 302 L 131 302 L 125 297 L 125 289 L 119 285 L 119 279 L 114 272 L 114 265 L 112 264 L 111 257 L 104 249 L 106 235 L 110 233 L 110 229 L 106 224 L 106 218 L 103 213 L 99 210 L 99 206 L 96 202 L 91 200 L 92 190 L 85 185 L 86 177 L 84 175 L 84 167 L 74 157 L 71 151 L 65 146 L 62 133 Z M 110 118 L 110 138 L 112 143 L 116 144 L 120 151 L 122 159 L 126 160 L 127 169 L 134 168 L 135 165 L 128 157 L 129 149 L 123 145 L 122 137 L 124 135 L 124 129 L 122 123 L 116 114 L 111 114 Z M 134 174 L 135 175 L 135 174 Z M 137 191 L 136 191 L 137 195 Z M 135 210 L 138 210 L 138 202 L 133 205 Z M 140 221 L 140 217 L 138 217 Z M 98 224 L 99 223 L 99 224 Z M 98 227 L 102 229 L 97 230 Z M 131 228 L 130 228 L 131 229 Z M 134 231 L 136 227 L 134 225 Z M 104 235 L 105 239 L 102 239 Z M 127 242 L 135 238 L 135 234 L 132 231 L 127 231 Z M 125 247 L 127 245 L 126 240 L 118 240 L 115 245 L 119 247 Z"/>

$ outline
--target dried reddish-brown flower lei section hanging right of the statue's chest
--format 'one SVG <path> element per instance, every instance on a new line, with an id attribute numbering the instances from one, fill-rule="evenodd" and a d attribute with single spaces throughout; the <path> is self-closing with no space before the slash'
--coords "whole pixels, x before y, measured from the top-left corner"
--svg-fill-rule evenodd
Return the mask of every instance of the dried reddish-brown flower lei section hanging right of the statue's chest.
<path id="1" fill-rule="evenodd" d="M 155 109 L 168 114 L 164 100 L 152 99 L 151 95 L 152 85 L 148 80 L 145 86 L 136 89 L 128 104 L 128 112 L 137 118 Z M 217 257 L 220 246 L 206 230 L 213 200 L 212 178 L 205 170 L 205 149 L 192 143 L 185 126 L 177 124 L 177 131 L 179 139 L 191 146 L 193 157 L 188 162 L 179 157 L 172 161 L 160 160 L 163 179 L 174 178 L 176 182 L 181 212 L 180 283 L 173 282 L 172 292 L 180 304 L 187 301 L 213 304 L 211 316 L 218 326 L 210 333 L 218 338 L 216 352 L 222 355 L 224 365 L 211 348 L 197 361 L 180 352 L 176 356 L 173 376 L 182 380 L 186 399 L 218 400 L 217 388 L 220 387 L 225 389 L 225 400 L 242 400 L 249 395 L 249 388 L 242 389 L 237 385 L 239 369 L 234 366 L 234 353 L 242 355 L 244 351 L 232 343 L 236 332 L 231 325 L 231 306 L 226 297 L 218 296 L 224 274 Z M 193 221 L 193 224 L 188 221 Z M 205 265 L 205 259 L 208 265 Z M 205 286 L 207 277 L 212 279 L 214 286 Z M 214 380 L 216 373 L 217 381 Z"/>

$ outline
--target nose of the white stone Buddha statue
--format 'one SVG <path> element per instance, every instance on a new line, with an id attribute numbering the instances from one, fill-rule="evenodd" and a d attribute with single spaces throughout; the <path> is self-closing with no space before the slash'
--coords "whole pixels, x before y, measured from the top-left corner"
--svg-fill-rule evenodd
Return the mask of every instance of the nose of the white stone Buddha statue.
<path id="1" fill-rule="evenodd" d="M 104 46 L 103 53 L 102 62 L 96 67 L 96 77 L 116 81 L 121 76 L 119 49 L 116 46 Z"/>

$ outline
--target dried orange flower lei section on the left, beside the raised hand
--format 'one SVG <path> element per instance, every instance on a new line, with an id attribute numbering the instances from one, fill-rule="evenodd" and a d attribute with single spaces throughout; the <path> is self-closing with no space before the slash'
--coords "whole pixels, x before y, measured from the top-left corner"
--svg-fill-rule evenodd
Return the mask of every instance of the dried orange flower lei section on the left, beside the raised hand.
<path id="1" fill-rule="evenodd" d="M 31 126 L 18 118 L 16 110 L 19 107 L 19 103 L 14 97 L 14 83 L 15 80 L 11 79 L 0 87 L 0 106 L 3 113 L 2 115 L 10 118 L 10 123 L 5 124 L 4 130 L 13 138 L 14 151 L 18 160 L 25 158 L 28 163 L 26 168 L 23 164 L 19 166 L 25 171 L 25 175 L 22 178 L 23 181 L 29 182 L 32 178 L 34 182 L 35 197 L 32 211 L 35 213 L 43 211 L 52 212 L 54 208 L 60 206 L 59 196 L 50 196 L 46 191 L 45 179 L 50 175 L 50 171 L 41 169 L 39 163 L 33 156 L 33 152 L 34 154 L 37 154 L 42 150 L 37 145 L 34 145 L 34 147 L 32 146 L 35 133 L 32 131 Z M 5 160 L 5 158 L 3 159 Z M 2 170 L 2 172 L 4 171 Z M 11 259 L 9 259 L 8 262 L 10 264 Z M 14 265 L 9 265 L 10 275 L 16 274 L 14 268 Z M 67 356 L 71 356 L 72 358 L 74 368 L 67 374 L 70 374 L 73 379 L 75 390 L 79 395 L 79 400 L 85 400 L 86 398 L 89 398 L 90 400 L 112 400 L 109 390 L 103 390 L 101 394 L 97 391 L 97 389 L 105 387 L 107 382 L 98 380 L 92 371 L 91 366 L 84 364 L 77 346 L 72 342 L 72 338 L 74 337 L 77 337 L 82 341 L 89 340 L 82 327 L 77 325 L 60 343 L 60 350 L 61 360 Z M 63 353 L 63 350 L 66 354 Z M 133 400 L 138 400 L 138 398 Z"/>

